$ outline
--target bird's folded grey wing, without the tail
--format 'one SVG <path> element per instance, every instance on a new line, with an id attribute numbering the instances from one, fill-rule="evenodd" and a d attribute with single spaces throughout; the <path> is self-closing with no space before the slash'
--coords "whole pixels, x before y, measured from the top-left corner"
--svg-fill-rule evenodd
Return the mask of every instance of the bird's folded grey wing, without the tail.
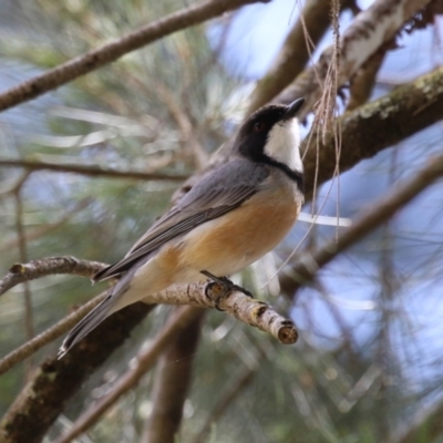
<path id="1" fill-rule="evenodd" d="M 268 175 L 265 165 L 243 159 L 231 161 L 215 169 L 158 219 L 121 261 L 95 274 L 93 281 L 127 271 L 142 257 L 173 238 L 235 209 L 257 192 Z"/>

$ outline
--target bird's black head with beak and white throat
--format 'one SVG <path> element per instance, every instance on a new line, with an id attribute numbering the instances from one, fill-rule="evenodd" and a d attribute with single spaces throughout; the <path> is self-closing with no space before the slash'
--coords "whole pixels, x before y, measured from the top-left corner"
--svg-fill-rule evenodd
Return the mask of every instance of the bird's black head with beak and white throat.
<path id="1" fill-rule="evenodd" d="M 234 142 L 234 153 L 253 162 L 278 163 L 302 172 L 300 136 L 295 119 L 305 100 L 290 105 L 267 105 L 256 111 L 241 125 Z"/>

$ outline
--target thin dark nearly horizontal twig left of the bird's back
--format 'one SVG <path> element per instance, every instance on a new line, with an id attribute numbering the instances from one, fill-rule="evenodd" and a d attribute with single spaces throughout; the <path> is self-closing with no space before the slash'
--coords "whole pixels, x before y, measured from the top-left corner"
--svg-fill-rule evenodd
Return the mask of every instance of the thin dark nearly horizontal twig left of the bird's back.
<path id="1" fill-rule="evenodd" d="M 187 178 L 186 175 L 168 175 L 168 174 L 153 174 L 144 173 L 143 171 L 117 171 L 90 165 L 76 164 L 55 164 L 47 162 L 33 162 L 24 159 L 7 159 L 0 158 L 0 166 L 3 167 L 22 167 L 28 171 L 51 171 L 58 173 L 73 173 L 86 175 L 90 177 L 113 177 L 113 178 L 130 178 L 130 179 L 146 179 L 146 181 L 171 181 L 183 182 Z"/>

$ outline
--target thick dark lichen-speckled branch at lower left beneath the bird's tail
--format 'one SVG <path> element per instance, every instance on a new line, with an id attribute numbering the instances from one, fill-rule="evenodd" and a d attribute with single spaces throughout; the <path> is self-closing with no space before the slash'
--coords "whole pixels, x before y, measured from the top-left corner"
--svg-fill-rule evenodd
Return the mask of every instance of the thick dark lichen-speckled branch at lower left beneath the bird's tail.
<path id="1" fill-rule="evenodd" d="M 40 443 L 85 378 L 123 343 L 153 308 L 131 305 L 107 318 L 62 360 L 48 359 L 0 422 L 1 443 Z"/>

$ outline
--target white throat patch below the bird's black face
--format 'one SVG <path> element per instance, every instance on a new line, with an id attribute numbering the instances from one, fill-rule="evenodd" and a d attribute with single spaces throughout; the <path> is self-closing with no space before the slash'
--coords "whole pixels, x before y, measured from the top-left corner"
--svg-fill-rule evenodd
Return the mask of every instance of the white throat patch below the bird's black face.
<path id="1" fill-rule="evenodd" d="M 298 120 L 276 123 L 269 131 L 265 145 L 265 154 L 289 166 L 292 171 L 302 172 L 303 164 L 300 158 L 300 134 Z"/>

